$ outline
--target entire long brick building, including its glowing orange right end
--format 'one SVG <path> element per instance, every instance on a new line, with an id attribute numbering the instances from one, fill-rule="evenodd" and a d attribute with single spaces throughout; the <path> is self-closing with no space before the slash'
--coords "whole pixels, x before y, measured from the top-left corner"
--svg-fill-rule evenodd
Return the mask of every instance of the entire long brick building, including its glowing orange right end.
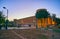
<path id="1" fill-rule="evenodd" d="M 44 27 L 46 28 L 47 26 L 51 26 L 51 25 L 55 25 L 56 22 L 53 21 L 53 19 L 51 17 L 48 18 L 42 18 L 42 20 L 40 19 L 36 19 L 35 16 L 31 16 L 31 17 L 26 17 L 26 18 L 22 18 L 22 19 L 14 19 L 15 25 L 16 26 L 24 26 L 24 27 Z"/>

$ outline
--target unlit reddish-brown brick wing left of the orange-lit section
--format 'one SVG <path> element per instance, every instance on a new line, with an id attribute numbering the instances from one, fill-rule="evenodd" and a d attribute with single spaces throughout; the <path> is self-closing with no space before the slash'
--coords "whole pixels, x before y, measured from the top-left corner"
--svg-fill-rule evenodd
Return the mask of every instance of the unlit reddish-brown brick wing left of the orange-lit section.
<path id="1" fill-rule="evenodd" d="M 36 25 L 36 18 L 35 16 L 22 18 L 22 19 L 14 19 L 16 26 L 25 26 L 25 27 L 35 27 Z"/>

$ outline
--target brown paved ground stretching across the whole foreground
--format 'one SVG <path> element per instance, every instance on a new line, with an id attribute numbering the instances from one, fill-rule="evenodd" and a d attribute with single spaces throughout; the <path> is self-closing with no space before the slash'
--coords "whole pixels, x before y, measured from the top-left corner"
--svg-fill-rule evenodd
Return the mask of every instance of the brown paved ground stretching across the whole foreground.
<path id="1" fill-rule="evenodd" d="M 34 38 L 35 35 L 39 35 L 38 37 L 40 37 L 40 35 L 45 35 L 48 39 L 60 39 L 60 33 L 56 33 L 51 30 L 0 30 L 0 39 L 25 39 L 26 36 L 28 38 L 30 38 L 30 36 L 33 36 L 32 38 Z"/>

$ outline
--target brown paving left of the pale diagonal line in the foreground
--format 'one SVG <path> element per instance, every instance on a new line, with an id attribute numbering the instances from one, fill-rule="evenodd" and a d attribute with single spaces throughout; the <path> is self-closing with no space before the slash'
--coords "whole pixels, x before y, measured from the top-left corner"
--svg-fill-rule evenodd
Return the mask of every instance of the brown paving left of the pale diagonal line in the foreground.
<path id="1" fill-rule="evenodd" d="M 21 39 L 11 32 L 11 30 L 0 30 L 0 39 Z"/>

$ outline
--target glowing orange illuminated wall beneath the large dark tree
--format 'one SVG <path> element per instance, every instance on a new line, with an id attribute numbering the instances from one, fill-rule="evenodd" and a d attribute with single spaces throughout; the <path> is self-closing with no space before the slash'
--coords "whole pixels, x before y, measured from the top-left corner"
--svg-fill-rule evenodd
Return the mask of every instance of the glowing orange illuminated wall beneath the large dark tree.
<path id="1" fill-rule="evenodd" d="M 42 18 L 42 19 L 38 19 L 37 20 L 37 26 L 38 28 L 44 27 L 46 28 L 47 26 L 52 26 L 55 25 L 56 22 L 53 21 L 52 18 L 48 17 L 48 18 Z"/>

